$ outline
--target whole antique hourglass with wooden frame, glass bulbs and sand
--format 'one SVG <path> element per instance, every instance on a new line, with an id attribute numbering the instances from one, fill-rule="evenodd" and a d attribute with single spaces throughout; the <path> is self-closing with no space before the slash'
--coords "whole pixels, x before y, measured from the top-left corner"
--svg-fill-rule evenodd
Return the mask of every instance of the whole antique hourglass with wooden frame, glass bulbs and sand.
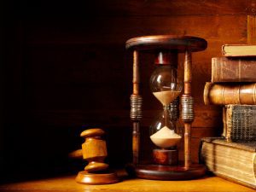
<path id="1" fill-rule="evenodd" d="M 192 60 L 191 52 L 207 48 L 203 38 L 190 36 L 146 36 L 131 38 L 126 49 L 133 51 L 133 93 L 131 95 L 131 120 L 133 166 L 130 171 L 137 177 L 159 180 L 183 180 L 201 177 L 206 167 L 191 163 L 190 129 L 194 120 L 194 99 L 191 96 Z M 155 55 L 155 70 L 150 78 L 150 90 L 162 104 L 163 112 L 149 128 L 149 137 L 154 143 L 154 164 L 142 165 L 139 162 L 140 120 L 142 119 L 143 97 L 140 96 L 139 53 Z M 177 79 L 177 55 L 184 53 L 183 83 Z M 177 126 L 179 116 L 179 95 L 181 96 L 181 119 L 184 130 Z M 182 133 L 183 132 L 183 133 Z M 184 160 L 178 160 L 177 143 L 184 141 Z"/>

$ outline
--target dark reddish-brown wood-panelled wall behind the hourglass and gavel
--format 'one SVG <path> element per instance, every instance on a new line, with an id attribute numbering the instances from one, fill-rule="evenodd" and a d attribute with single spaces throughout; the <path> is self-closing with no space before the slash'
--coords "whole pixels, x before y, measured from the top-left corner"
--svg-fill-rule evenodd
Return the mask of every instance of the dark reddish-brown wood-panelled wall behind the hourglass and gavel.
<path id="1" fill-rule="evenodd" d="M 1 1 L 0 172 L 2 181 L 67 174 L 84 163 L 67 154 L 79 133 L 107 132 L 108 163 L 131 161 L 131 53 L 125 41 L 144 35 L 205 38 L 193 55 L 193 161 L 201 137 L 222 131 L 221 109 L 203 104 L 211 58 L 222 44 L 247 42 L 255 1 Z M 148 90 L 153 56 L 142 55 L 143 134 L 160 104 Z M 180 69 L 183 72 L 183 55 Z M 143 139 L 143 143 L 148 143 Z M 150 148 L 143 145 L 143 158 Z M 182 155 L 182 151 L 181 151 Z M 142 158 L 142 159 L 143 159 Z"/>

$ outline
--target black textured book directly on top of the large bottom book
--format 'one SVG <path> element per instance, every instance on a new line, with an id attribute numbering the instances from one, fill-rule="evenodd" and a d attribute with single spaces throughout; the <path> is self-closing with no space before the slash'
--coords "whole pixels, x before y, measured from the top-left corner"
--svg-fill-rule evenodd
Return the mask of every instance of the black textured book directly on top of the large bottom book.
<path id="1" fill-rule="evenodd" d="M 256 143 L 256 105 L 226 105 L 223 119 L 227 141 Z"/>

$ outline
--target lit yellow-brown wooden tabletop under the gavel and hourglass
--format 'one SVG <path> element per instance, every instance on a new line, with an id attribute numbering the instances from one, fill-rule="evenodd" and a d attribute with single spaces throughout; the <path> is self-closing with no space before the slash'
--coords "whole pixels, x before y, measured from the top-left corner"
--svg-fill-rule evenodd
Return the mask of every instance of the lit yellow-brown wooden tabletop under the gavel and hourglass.
<path id="1" fill-rule="evenodd" d="M 191 181 L 154 181 L 144 179 L 124 179 L 120 183 L 108 185 L 84 185 L 76 183 L 75 176 L 55 177 L 38 181 L 28 181 L 22 183 L 9 183 L 0 185 L 0 191 L 17 192 L 79 192 L 79 191 L 113 191 L 113 192 L 255 192 L 253 189 L 231 183 L 219 177 L 203 177 Z"/>

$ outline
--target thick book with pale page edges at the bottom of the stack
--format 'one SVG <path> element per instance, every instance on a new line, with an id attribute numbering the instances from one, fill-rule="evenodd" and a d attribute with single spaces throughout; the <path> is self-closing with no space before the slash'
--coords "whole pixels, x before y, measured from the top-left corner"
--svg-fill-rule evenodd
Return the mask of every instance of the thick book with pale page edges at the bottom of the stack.
<path id="1" fill-rule="evenodd" d="M 218 177 L 256 189 L 256 143 L 203 138 L 200 159 Z"/>

